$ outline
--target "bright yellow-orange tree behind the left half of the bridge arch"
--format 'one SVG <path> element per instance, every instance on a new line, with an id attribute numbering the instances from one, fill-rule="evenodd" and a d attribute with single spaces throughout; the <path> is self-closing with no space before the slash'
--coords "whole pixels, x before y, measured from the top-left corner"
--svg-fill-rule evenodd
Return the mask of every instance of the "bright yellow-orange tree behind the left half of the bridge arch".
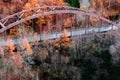
<path id="1" fill-rule="evenodd" d="M 40 7 L 40 4 L 38 3 L 38 0 L 28 0 L 28 3 L 25 4 L 25 6 L 23 7 L 23 10 L 37 8 L 37 7 Z M 37 13 L 47 12 L 47 10 L 38 10 L 36 12 Z M 23 15 L 23 17 L 31 16 L 31 15 L 33 15 L 33 13 L 34 12 L 27 12 Z M 36 19 L 33 19 L 33 20 L 28 20 L 28 21 L 24 22 L 24 24 L 25 24 L 26 28 L 30 28 L 31 24 L 32 24 L 32 26 L 34 27 L 34 30 L 36 30 L 38 24 L 40 24 L 40 23 L 46 24 L 48 19 L 51 20 L 52 16 L 42 16 L 41 19 L 36 18 Z"/>

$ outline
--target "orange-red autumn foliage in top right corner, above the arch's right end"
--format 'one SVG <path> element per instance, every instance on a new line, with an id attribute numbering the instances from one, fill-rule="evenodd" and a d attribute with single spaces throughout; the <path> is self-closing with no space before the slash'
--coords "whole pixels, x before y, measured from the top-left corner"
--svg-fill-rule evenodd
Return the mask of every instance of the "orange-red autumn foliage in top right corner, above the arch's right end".
<path id="1" fill-rule="evenodd" d="M 120 14 L 120 0 L 90 0 L 96 12 L 101 12 L 101 16 L 108 18 Z"/>

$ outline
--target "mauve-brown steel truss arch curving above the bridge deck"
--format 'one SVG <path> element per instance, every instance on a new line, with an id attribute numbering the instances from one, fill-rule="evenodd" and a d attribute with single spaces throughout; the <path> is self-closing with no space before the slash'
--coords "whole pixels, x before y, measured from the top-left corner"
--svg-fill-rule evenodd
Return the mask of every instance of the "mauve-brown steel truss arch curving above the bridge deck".
<path id="1" fill-rule="evenodd" d="M 45 10 L 45 12 L 39 12 L 40 10 Z M 32 12 L 33 15 L 28 16 L 28 17 L 23 17 L 24 14 L 29 13 L 29 12 Z M 15 13 L 13 15 L 10 15 L 8 17 L 1 19 L 0 20 L 0 25 L 1 25 L 0 33 L 4 32 L 7 29 L 10 29 L 20 23 L 23 23 L 27 20 L 31 20 L 34 18 L 47 16 L 47 15 L 52 15 L 52 14 L 64 14 L 64 13 L 82 14 L 82 15 L 85 15 L 88 17 L 92 16 L 94 18 L 99 19 L 100 21 L 107 22 L 108 24 L 111 24 L 111 25 L 116 25 L 114 22 L 112 22 L 106 18 L 103 18 L 100 15 L 97 15 L 97 14 L 91 13 L 91 12 L 87 12 L 87 11 L 83 11 L 78 8 L 73 8 L 73 7 L 68 7 L 68 6 L 45 6 L 45 7 L 34 8 L 34 9 L 30 9 L 30 10 L 24 10 L 24 11 Z M 16 20 L 16 17 L 19 17 L 19 19 Z M 13 21 L 11 21 L 11 20 L 13 20 Z"/>

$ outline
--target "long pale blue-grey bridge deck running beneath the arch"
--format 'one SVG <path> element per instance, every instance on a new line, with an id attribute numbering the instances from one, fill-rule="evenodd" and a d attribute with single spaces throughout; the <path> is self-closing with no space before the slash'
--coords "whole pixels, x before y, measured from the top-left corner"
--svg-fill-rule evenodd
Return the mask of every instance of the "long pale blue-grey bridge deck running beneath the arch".
<path id="1" fill-rule="evenodd" d="M 71 37 L 71 36 L 77 36 L 77 35 L 87 35 L 87 34 L 92 34 L 92 33 L 103 33 L 109 30 L 113 30 L 115 27 L 114 26 L 103 26 L 103 27 L 96 27 L 96 28 L 82 28 L 82 29 L 75 29 L 75 30 L 68 30 L 67 32 L 67 36 Z M 63 34 L 63 32 L 53 32 L 53 33 L 42 33 L 42 34 L 38 34 L 38 41 L 40 40 L 46 40 L 46 39 L 55 39 L 57 37 L 61 37 L 61 35 Z M 25 38 L 28 40 L 28 42 L 34 42 L 34 36 L 25 36 Z M 21 38 L 16 38 L 16 37 L 12 37 L 11 38 L 12 42 L 14 44 L 21 44 L 22 40 Z M 0 39 L 0 46 L 5 46 L 7 42 L 7 39 L 5 40 L 4 38 Z"/>

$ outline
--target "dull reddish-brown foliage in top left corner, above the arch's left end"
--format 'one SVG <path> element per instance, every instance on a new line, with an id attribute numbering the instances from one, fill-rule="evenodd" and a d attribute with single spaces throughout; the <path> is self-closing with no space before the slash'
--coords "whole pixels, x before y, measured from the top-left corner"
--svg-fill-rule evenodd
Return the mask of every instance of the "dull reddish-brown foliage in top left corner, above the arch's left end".
<path id="1" fill-rule="evenodd" d="M 0 19 L 19 12 L 27 0 L 0 0 Z"/>

